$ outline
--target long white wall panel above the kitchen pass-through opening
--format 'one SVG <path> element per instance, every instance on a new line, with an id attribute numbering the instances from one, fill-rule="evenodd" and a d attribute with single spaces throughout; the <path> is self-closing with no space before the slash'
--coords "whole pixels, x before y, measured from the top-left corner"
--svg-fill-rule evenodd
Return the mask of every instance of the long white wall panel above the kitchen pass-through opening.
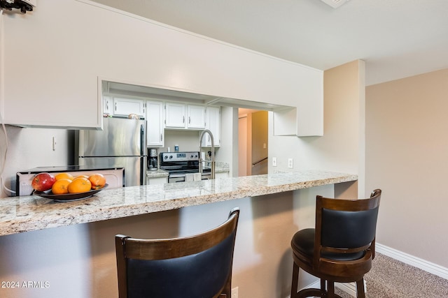
<path id="1" fill-rule="evenodd" d="M 32 13 L 6 15 L 4 23 L 3 108 L 10 124 L 99 126 L 97 77 L 104 77 L 298 106 L 320 129 L 321 70 L 90 1 L 42 0 Z"/>

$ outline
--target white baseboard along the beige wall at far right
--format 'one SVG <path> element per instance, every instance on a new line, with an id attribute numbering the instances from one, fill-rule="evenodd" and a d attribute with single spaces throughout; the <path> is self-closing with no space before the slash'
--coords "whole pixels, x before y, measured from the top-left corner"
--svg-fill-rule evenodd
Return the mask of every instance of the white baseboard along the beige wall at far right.
<path id="1" fill-rule="evenodd" d="M 414 255 L 409 255 L 407 253 L 403 253 L 402 251 L 397 251 L 394 248 L 379 243 L 375 244 L 375 251 L 383 255 L 387 255 L 388 257 L 398 260 L 400 262 L 403 262 L 407 265 L 420 268 L 424 271 L 429 272 L 430 274 L 434 274 L 440 276 L 441 278 L 448 279 L 448 268 L 446 267 L 442 267 L 440 265 L 428 262 L 421 258 L 414 257 Z"/>

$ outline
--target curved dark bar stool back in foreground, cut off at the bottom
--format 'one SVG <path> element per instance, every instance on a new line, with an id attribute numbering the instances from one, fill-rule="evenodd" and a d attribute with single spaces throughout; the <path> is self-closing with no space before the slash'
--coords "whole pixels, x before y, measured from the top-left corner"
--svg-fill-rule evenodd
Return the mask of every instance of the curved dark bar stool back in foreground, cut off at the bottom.
<path id="1" fill-rule="evenodd" d="M 120 298 L 230 298 L 239 209 L 218 227 L 189 237 L 116 235 Z"/>

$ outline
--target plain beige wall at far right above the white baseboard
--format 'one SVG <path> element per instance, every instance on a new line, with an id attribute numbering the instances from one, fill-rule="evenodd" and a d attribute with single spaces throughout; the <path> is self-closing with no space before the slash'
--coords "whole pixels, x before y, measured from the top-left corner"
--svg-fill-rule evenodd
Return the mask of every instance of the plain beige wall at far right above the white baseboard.
<path id="1" fill-rule="evenodd" d="M 366 89 L 366 187 L 377 241 L 448 267 L 448 69 Z"/>

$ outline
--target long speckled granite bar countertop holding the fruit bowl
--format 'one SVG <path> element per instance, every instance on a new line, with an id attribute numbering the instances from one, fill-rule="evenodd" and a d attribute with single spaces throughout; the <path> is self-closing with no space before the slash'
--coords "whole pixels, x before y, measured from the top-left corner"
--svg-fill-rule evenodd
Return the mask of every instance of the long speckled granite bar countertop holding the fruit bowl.
<path id="1" fill-rule="evenodd" d="M 104 189 L 90 198 L 56 202 L 37 195 L 0 198 L 0 236 L 356 181 L 356 174 L 283 172 L 173 184 Z"/>

